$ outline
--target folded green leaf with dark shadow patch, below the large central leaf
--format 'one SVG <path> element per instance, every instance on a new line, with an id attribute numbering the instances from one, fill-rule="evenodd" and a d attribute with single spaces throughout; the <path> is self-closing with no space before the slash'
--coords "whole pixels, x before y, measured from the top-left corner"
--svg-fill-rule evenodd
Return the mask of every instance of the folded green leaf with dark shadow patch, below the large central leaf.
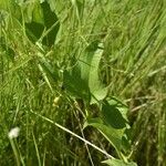
<path id="1" fill-rule="evenodd" d="M 125 107 L 122 112 L 122 108 Z M 129 137 L 127 118 L 123 114 L 126 114 L 126 106 L 122 102 L 111 98 L 104 101 L 102 105 L 102 117 L 92 118 L 85 122 L 85 126 L 90 125 L 96 127 L 103 136 L 115 147 L 120 157 L 122 152 L 128 152 Z M 127 132 L 126 132 L 127 131 Z"/>

